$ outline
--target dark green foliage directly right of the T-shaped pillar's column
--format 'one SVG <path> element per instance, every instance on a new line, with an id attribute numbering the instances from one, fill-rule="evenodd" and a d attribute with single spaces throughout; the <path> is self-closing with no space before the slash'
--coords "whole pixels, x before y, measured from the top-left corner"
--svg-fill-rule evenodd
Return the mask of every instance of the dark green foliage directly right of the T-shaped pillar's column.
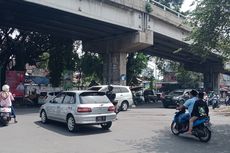
<path id="1" fill-rule="evenodd" d="M 130 53 L 127 62 L 127 84 L 137 85 L 137 77 L 147 67 L 148 58 L 143 53 Z"/>

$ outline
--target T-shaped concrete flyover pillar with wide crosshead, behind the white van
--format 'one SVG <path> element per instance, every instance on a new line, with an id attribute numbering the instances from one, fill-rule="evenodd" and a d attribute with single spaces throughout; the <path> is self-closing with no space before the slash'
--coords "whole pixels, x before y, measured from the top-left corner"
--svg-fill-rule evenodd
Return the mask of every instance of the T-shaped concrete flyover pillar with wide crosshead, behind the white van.
<path id="1" fill-rule="evenodd" d="M 83 41 L 83 50 L 103 54 L 103 83 L 126 85 L 126 60 L 130 52 L 153 45 L 152 31 L 139 31 L 101 40 Z"/>

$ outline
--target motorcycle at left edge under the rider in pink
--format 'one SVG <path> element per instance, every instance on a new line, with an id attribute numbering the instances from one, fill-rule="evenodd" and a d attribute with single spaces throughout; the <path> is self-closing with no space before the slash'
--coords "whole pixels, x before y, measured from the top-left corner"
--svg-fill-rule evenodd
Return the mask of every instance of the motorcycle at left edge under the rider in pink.
<path id="1" fill-rule="evenodd" d="M 11 108 L 0 107 L 0 123 L 3 126 L 7 126 L 11 120 Z"/>

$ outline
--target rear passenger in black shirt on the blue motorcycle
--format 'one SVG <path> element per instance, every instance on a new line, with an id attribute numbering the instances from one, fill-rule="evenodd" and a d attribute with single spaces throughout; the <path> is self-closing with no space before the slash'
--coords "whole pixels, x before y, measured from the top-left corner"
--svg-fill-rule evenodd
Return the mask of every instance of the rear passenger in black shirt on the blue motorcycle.
<path id="1" fill-rule="evenodd" d="M 198 100 L 195 102 L 193 106 L 193 111 L 191 113 L 191 118 L 189 120 L 189 130 L 188 133 L 192 134 L 193 122 L 199 117 L 207 117 L 209 113 L 208 105 L 203 100 L 204 93 L 198 93 Z"/>

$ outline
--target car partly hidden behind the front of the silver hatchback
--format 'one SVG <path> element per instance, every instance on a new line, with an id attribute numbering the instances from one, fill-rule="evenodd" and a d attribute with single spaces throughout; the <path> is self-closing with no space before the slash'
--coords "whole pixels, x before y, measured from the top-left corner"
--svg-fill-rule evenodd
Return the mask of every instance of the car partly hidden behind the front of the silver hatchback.
<path id="1" fill-rule="evenodd" d="M 45 104 L 49 102 L 50 100 L 54 99 L 54 97 L 57 96 L 59 93 L 60 91 L 41 92 L 38 96 L 38 104 Z"/>

